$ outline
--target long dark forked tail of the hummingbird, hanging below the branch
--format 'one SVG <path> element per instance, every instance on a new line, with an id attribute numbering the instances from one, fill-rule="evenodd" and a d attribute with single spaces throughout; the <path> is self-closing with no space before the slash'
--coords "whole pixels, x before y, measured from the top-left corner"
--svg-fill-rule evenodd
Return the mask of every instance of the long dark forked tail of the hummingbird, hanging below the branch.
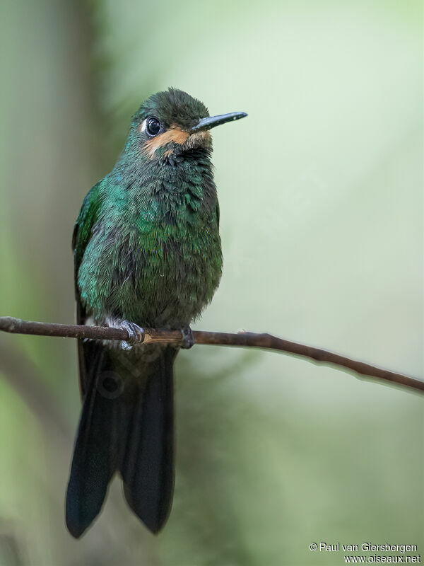
<path id="1" fill-rule="evenodd" d="M 172 347 L 137 354 L 86 342 L 80 348 L 83 409 L 66 493 L 66 525 L 78 538 L 100 512 L 115 471 L 127 502 L 157 533 L 174 487 Z M 82 362 L 82 363 L 81 363 Z"/>

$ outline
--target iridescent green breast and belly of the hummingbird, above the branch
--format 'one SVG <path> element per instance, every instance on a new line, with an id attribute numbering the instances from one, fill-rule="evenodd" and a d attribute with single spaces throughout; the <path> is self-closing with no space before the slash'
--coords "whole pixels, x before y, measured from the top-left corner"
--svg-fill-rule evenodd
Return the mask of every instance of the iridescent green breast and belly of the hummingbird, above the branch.
<path id="1" fill-rule="evenodd" d="M 114 316 L 141 326 L 189 325 L 220 280 L 216 199 L 205 206 L 177 191 L 146 202 L 116 185 L 107 197 L 78 269 L 86 313 L 98 323 Z"/>

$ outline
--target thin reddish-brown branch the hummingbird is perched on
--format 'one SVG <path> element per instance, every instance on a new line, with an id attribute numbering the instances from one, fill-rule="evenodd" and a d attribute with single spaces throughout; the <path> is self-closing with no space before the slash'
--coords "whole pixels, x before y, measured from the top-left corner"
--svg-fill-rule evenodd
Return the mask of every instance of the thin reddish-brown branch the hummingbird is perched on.
<path id="1" fill-rule="evenodd" d="M 128 333 L 123 328 L 108 328 L 102 326 L 83 326 L 75 324 L 53 324 L 30 322 L 12 318 L 10 316 L 0 317 L 0 330 L 15 334 L 33 334 L 42 336 L 59 336 L 68 338 L 97 338 L 100 340 L 127 340 Z M 396 374 L 394 371 L 381 369 L 379 367 L 358 362 L 327 350 L 314 348 L 289 342 L 272 336 L 271 334 L 255 334 L 242 332 L 237 334 L 223 332 L 205 332 L 204 330 L 194 331 L 194 342 L 196 344 L 216 345 L 216 346 L 239 346 L 249 348 L 261 348 L 264 350 L 277 350 L 296 356 L 307 357 L 314 362 L 331 364 L 346 368 L 361 376 L 374 377 L 384 381 L 390 381 L 396 385 L 409 387 L 415 391 L 424 392 L 424 381 L 412 377 Z M 179 330 L 157 330 L 146 328 L 141 335 L 140 342 L 151 344 L 153 342 L 164 344 L 181 345 L 182 334 Z"/>

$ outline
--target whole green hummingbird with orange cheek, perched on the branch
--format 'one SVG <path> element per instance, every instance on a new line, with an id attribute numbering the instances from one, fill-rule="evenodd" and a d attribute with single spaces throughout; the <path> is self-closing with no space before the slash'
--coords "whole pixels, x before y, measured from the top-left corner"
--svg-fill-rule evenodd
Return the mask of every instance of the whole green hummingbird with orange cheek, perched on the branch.
<path id="1" fill-rule="evenodd" d="M 174 488 L 172 366 L 179 347 L 140 343 L 143 328 L 181 330 L 211 301 L 223 266 L 210 116 L 169 88 L 143 102 L 117 163 L 86 195 L 73 230 L 77 322 L 124 328 L 125 341 L 78 340 L 81 417 L 66 492 L 79 538 L 98 516 L 115 473 L 153 533 Z"/>

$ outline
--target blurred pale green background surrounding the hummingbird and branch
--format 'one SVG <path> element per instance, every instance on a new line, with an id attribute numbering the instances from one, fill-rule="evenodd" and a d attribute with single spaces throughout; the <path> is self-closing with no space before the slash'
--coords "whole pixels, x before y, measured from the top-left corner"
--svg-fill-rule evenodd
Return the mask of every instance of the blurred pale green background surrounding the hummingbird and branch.
<path id="1" fill-rule="evenodd" d="M 71 233 L 129 117 L 175 86 L 213 114 L 225 258 L 196 328 L 245 328 L 423 378 L 421 1 L 5 0 L 0 313 L 73 320 Z M 115 482 L 64 526 L 76 345 L 0 336 L 0 564 L 338 565 L 424 554 L 423 400 L 269 352 L 176 368 L 177 483 L 153 537 Z"/>

